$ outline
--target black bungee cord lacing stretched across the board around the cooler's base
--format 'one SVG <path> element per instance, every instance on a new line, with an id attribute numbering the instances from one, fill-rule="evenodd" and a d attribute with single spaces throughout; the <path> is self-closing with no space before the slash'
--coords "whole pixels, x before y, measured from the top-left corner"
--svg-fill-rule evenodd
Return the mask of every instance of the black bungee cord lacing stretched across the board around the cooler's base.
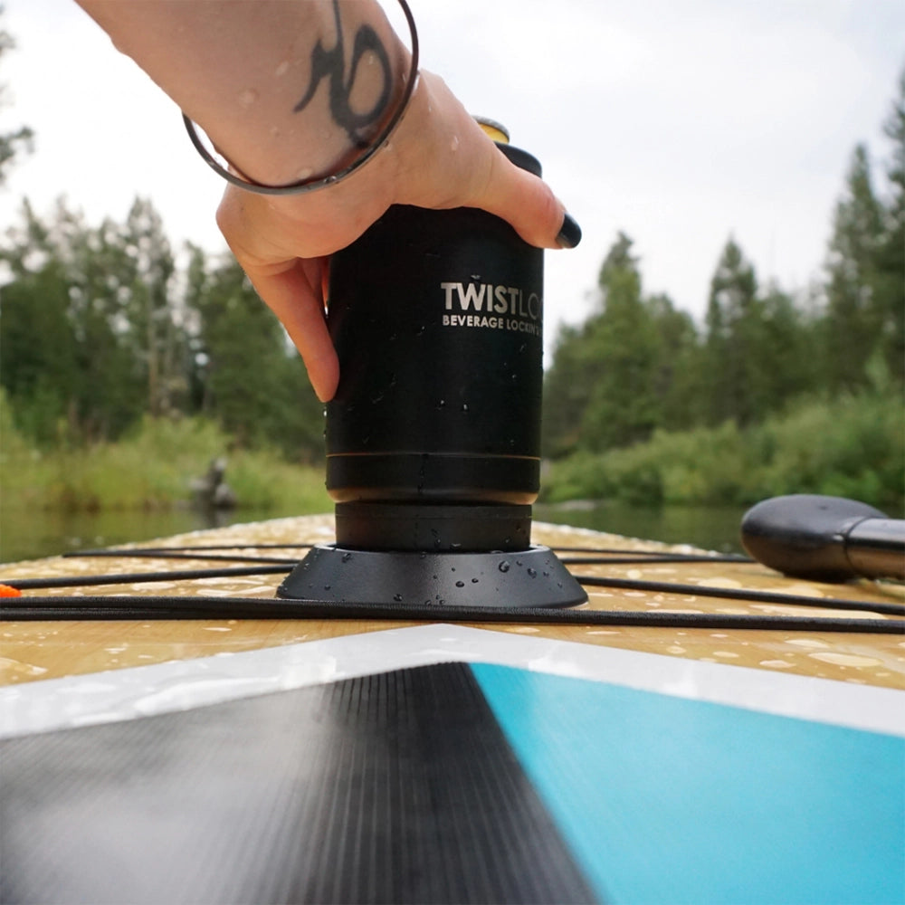
<path id="1" fill-rule="evenodd" d="M 87 550 L 67 557 L 159 557 L 167 559 L 216 559 L 254 566 L 218 567 L 154 572 L 129 572 L 112 575 L 81 575 L 47 578 L 8 578 L 7 586 L 19 591 L 101 585 L 135 585 L 156 581 L 184 581 L 214 577 L 278 575 L 291 571 L 296 559 L 246 555 L 224 555 L 211 550 L 310 548 L 311 544 L 242 544 L 186 546 L 179 548 L 135 548 Z M 612 548 L 557 548 L 563 552 L 587 553 L 592 557 L 570 557 L 571 566 L 581 564 L 627 565 L 633 563 L 746 563 L 753 560 L 735 555 L 660 553 L 625 551 Z M 448 604 L 355 603 L 327 600 L 282 600 L 252 596 L 180 596 L 180 595 L 25 595 L 0 600 L 0 621 L 41 620 L 148 620 L 148 619 L 350 619 L 367 618 L 394 621 L 436 621 L 634 625 L 666 628 L 749 629 L 792 632 L 853 632 L 905 634 L 905 605 L 877 603 L 837 597 L 811 597 L 776 591 L 685 585 L 673 582 L 644 581 L 636 578 L 575 575 L 586 587 L 611 587 L 649 591 L 658 594 L 715 597 L 746 602 L 816 607 L 823 610 L 874 614 L 875 618 L 843 616 L 794 616 L 777 614 L 707 614 L 661 611 L 595 610 L 584 607 L 487 608 Z M 879 617 L 879 618 L 877 618 Z"/>

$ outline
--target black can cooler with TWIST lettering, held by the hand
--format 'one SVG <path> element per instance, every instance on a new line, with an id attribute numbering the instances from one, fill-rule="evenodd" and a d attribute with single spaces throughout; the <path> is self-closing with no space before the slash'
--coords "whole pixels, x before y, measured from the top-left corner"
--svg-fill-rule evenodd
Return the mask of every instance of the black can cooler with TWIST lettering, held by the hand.
<path id="1" fill-rule="evenodd" d="M 540 175 L 534 157 L 498 147 Z M 328 319 L 340 365 L 327 406 L 338 539 L 340 516 L 366 504 L 506 506 L 530 519 L 540 478 L 542 250 L 481 210 L 396 205 L 333 256 Z"/>

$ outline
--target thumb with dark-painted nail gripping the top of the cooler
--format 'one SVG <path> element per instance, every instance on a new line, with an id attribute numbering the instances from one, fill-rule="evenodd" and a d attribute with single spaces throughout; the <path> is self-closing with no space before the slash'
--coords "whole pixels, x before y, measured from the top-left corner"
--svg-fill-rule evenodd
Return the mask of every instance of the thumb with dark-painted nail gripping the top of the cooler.
<path id="1" fill-rule="evenodd" d="M 538 248 L 575 248 L 581 227 L 550 186 L 516 167 L 496 146 L 492 153 L 490 177 L 472 205 L 501 217 Z"/>

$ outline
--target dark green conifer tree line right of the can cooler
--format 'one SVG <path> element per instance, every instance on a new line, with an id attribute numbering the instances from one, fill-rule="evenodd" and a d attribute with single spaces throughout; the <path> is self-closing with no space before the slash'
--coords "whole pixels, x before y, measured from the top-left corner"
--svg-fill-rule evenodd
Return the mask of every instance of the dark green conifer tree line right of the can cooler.
<path id="1" fill-rule="evenodd" d="M 597 453 L 680 431 L 759 424 L 807 397 L 884 394 L 905 380 L 905 73 L 884 123 L 881 187 L 854 149 L 835 205 L 824 273 L 804 293 L 758 281 L 729 237 L 703 324 L 643 291 L 620 233 L 595 310 L 560 330 L 546 374 L 544 450 Z"/>

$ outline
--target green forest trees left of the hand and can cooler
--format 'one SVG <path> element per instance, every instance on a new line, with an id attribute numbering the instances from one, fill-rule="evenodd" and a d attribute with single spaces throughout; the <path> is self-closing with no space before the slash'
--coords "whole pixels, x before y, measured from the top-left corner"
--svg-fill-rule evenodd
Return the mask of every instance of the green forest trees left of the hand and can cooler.
<path id="1" fill-rule="evenodd" d="M 144 414 L 202 414 L 243 446 L 315 460 L 323 406 L 231 256 L 174 254 L 154 206 L 86 224 L 24 203 L 0 248 L 0 385 L 34 443 L 116 440 Z M 181 262 L 180 262 L 181 259 Z"/>

